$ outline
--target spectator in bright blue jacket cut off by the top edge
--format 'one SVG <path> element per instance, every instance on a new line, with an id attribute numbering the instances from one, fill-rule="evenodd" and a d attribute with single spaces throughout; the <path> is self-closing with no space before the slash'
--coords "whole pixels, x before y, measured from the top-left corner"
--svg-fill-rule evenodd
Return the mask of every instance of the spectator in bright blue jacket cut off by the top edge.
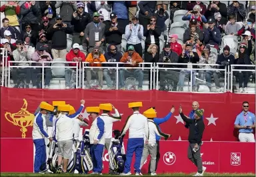
<path id="1" fill-rule="evenodd" d="M 129 24 L 129 7 L 131 7 L 131 1 L 107 1 L 112 5 L 112 12 L 117 15 L 118 23 L 122 27 L 126 27 Z M 125 31 L 123 31 L 123 34 Z"/>

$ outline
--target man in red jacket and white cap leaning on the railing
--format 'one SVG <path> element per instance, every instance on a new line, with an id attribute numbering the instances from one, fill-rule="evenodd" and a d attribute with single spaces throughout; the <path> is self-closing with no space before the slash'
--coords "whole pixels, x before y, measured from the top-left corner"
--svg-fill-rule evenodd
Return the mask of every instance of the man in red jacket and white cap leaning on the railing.
<path id="1" fill-rule="evenodd" d="M 82 53 L 79 49 L 79 44 L 73 44 L 73 49 L 69 51 L 66 55 L 66 61 L 75 61 L 75 62 L 83 62 L 85 61 L 85 54 Z M 69 67 L 76 67 L 78 64 L 69 63 Z M 66 89 L 75 88 L 75 77 L 76 71 L 74 68 L 67 68 L 65 70 L 65 81 L 66 81 Z"/>

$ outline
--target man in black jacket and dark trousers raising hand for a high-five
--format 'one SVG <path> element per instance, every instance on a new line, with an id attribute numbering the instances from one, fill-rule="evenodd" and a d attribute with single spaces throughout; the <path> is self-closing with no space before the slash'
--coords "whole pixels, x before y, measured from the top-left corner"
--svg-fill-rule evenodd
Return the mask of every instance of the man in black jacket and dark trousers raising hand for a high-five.
<path id="1" fill-rule="evenodd" d="M 181 118 L 189 124 L 189 148 L 187 150 L 187 157 L 195 166 L 197 166 L 197 174 L 194 176 L 203 176 L 203 173 L 206 170 L 206 167 L 203 166 L 202 158 L 201 158 L 201 146 L 202 146 L 202 138 L 203 132 L 205 130 L 205 124 L 203 123 L 203 109 L 195 110 L 195 119 L 190 119 L 183 114 L 183 110 L 181 106 L 179 106 L 179 114 Z"/>

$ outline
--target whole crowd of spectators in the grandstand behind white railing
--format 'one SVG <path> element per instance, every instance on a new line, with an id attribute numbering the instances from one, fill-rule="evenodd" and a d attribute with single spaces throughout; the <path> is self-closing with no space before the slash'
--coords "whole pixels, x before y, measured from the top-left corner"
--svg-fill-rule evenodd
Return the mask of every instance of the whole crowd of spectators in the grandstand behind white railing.
<path id="1" fill-rule="evenodd" d="M 233 73 L 238 87 L 229 89 L 248 92 L 248 83 L 255 82 L 255 1 L 3 1 L 0 11 L 1 60 L 19 61 L 10 64 L 19 66 L 11 69 L 15 88 L 21 81 L 23 88 L 41 88 L 42 69 L 23 66 L 51 65 L 43 61 L 88 62 L 87 67 L 121 62 L 127 63 L 121 67 L 133 68 L 119 69 L 118 82 L 115 69 L 85 69 L 86 87 L 96 79 L 98 89 L 104 83 L 104 89 L 115 89 L 115 83 L 127 89 L 126 79 L 133 76 L 137 89 L 143 90 L 143 81 L 152 73 L 145 75 L 139 63 L 178 68 L 159 72 L 160 90 L 172 85 L 171 90 L 183 91 L 185 79 L 192 77 L 192 90 L 197 91 L 192 67 L 205 69 L 199 70 L 199 77 L 211 92 L 223 90 L 221 79 L 226 76 L 225 70 L 213 69 L 230 65 L 252 66 L 235 67 L 244 71 Z M 66 65 L 73 67 L 63 75 L 69 89 L 77 64 Z M 53 71 L 48 67 L 44 72 L 44 88 L 51 88 Z"/>

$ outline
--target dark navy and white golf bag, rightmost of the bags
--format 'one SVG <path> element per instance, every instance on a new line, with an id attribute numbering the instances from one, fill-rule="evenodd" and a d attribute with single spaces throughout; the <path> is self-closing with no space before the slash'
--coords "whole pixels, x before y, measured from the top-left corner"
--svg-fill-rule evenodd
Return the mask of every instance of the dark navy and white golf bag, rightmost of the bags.
<path id="1" fill-rule="evenodd" d="M 115 138 L 111 139 L 109 145 L 109 170 L 113 174 L 120 174 L 125 168 L 125 148 L 123 145 L 123 137 L 119 138 L 121 132 L 119 130 L 113 130 Z"/>

